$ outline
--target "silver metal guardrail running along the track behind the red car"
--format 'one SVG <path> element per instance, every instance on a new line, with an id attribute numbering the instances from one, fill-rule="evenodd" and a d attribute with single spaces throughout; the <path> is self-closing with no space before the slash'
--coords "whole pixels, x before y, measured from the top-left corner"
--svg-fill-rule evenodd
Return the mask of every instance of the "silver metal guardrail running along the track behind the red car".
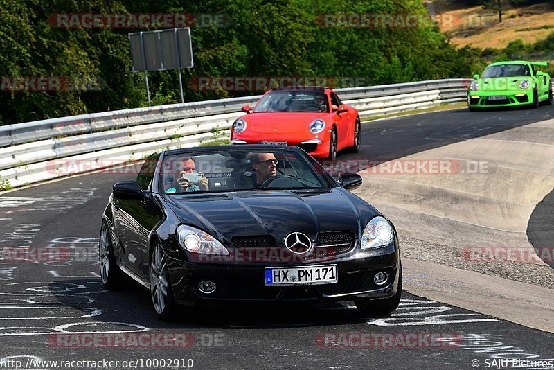
<path id="1" fill-rule="evenodd" d="M 336 89 L 360 117 L 386 116 L 464 101 L 469 80 L 449 79 Z M 198 146 L 228 130 L 260 96 L 82 114 L 0 126 L 0 186 L 23 186 Z M 74 168 L 68 166 L 74 164 Z M 84 166 L 83 164 L 86 164 Z M 4 182 L 2 184 L 1 182 Z M 1 188 L 1 187 L 0 187 Z"/>

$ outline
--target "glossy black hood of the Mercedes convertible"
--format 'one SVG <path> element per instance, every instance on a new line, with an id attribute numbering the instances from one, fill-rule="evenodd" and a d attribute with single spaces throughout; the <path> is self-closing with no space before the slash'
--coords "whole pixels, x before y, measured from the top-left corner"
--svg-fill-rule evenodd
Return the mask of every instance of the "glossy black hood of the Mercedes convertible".
<path id="1" fill-rule="evenodd" d="M 325 191 L 240 191 L 171 195 L 168 204 L 181 222 L 230 243 L 235 236 L 271 235 L 283 243 L 300 231 L 316 240 L 320 231 L 353 231 L 380 213 L 343 188 Z"/>

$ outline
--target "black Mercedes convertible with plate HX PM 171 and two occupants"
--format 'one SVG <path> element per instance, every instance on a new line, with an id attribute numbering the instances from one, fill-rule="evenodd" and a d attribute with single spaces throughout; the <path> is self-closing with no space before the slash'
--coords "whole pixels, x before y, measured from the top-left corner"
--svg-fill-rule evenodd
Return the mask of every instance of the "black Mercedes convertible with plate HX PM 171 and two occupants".
<path id="1" fill-rule="evenodd" d="M 354 301 L 393 312 L 402 292 L 395 228 L 291 146 L 213 146 L 150 155 L 114 184 L 102 217 L 107 289 L 150 291 L 160 319 L 177 305 Z"/>

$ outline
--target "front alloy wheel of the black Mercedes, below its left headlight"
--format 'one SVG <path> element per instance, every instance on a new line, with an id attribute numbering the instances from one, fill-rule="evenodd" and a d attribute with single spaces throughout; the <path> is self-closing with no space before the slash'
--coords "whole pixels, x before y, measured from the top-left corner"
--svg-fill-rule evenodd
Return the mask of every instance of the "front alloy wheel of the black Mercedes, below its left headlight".
<path id="1" fill-rule="evenodd" d="M 173 311 L 173 294 L 169 283 L 166 255 L 160 244 L 154 247 L 150 258 L 150 296 L 160 319 L 169 319 Z"/>

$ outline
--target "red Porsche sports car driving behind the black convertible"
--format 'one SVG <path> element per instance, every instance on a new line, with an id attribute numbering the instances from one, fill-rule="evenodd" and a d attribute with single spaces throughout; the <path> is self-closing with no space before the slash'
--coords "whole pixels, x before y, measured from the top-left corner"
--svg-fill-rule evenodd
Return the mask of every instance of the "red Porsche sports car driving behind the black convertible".
<path id="1" fill-rule="evenodd" d="M 231 128 L 233 144 L 299 146 L 312 157 L 336 159 L 337 151 L 358 152 L 358 111 L 327 87 L 269 90 Z"/>

